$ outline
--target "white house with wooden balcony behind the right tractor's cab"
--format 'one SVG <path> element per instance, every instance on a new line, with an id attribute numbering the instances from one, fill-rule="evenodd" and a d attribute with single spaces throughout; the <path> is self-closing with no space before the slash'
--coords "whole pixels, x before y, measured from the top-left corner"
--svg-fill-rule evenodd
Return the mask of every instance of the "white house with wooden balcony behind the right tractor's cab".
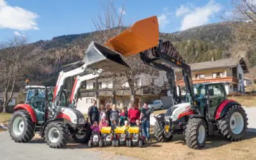
<path id="1" fill-rule="evenodd" d="M 248 73 L 248 68 L 243 58 L 204 61 L 189 65 L 193 84 L 220 82 L 225 83 L 229 95 L 244 93 L 244 73 Z M 177 84 L 184 87 L 183 80 L 177 81 Z"/>

